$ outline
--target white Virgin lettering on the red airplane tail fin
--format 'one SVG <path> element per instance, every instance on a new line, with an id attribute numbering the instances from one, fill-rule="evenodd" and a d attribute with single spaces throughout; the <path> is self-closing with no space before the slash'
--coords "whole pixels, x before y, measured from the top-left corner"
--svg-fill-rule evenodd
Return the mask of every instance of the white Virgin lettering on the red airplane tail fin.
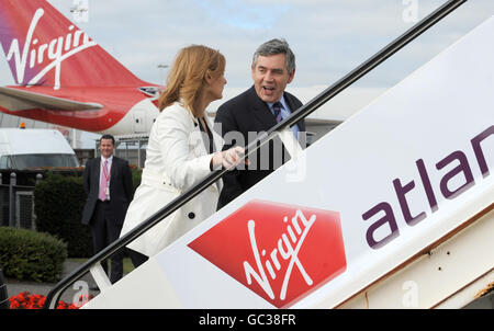
<path id="1" fill-rule="evenodd" d="M 44 13 L 45 11 L 43 9 L 37 9 L 34 13 L 22 49 L 20 48 L 19 39 L 12 39 L 7 54 L 7 60 L 11 61 L 13 59 L 15 61 L 15 79 L 19 84 L 24 83 L 27 66 L 30 69 L 33 69 L 35 66 L 42 66 L 46 60 L 50 60 L 44 67 L 38 68 L 37 75 L 26 82 L 26 84 L 36 84 L 49 70 L 55 69 L 54 89 L 58 90 L 60 88 L 61 62 L 83 49 L 96 46 L 97 43 L 90 41 L 89 36 L 82 31 L 75 30 L 75 25 L 70 25 L 65 36 L 58 36 L 47 43 L 41 44 L 41 41 L 33 38 L 33 36 L 37 23 Z"/>

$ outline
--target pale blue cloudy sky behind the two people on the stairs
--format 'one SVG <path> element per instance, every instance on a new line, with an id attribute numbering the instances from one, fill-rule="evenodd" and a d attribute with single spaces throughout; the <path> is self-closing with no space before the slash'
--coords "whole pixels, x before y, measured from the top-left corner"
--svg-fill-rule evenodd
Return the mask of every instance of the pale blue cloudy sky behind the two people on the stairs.
<path id="1" fill-rule="evenodd" d="M 49 0 L 70 20 L 74 20 L 70 9 L 79 1 L 88 3 L 88 18 L 77 25 L 145 81 L 164 84 L 168 69 L 159 67 L 171 65 L 180 48 L 202 44 L 225 55 L 227 89 L 243 91 L 252 83 L 250 65 L 255 49 L 263 42 L 279 37 L 287 39 L 296 56 L 295 78 L 289 90 L 308 89 L 311 96 L 336 82 L 446 2 Z M 349 91 L 360 89 L 379 94 L 493 14 L 493 0 L 467 1 L 356 82 Z M 0 85 L 5 84 L 13 84 L 13 79 L 5 56 L 1 54 Z M 350 95 L 347 102 L 358 99 Z M 305 98 L 302 101 L 308 100 Z"/>

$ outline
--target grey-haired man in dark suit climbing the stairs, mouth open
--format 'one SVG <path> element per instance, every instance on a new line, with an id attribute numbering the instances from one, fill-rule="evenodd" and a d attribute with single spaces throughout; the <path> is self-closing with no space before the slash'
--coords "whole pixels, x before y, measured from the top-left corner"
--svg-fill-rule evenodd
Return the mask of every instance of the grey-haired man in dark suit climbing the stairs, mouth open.
<path id="1" fill-rule="evenodd" d="M 216 113 L 215 129 L 225 140 L 224 150 L 235 145 L 247 146 L 258 133 L 268 132 L 302 105 L 299 99 L 284 91 L 294 75 L 295 56 L 284 39 L 272 39 L 259 46 L 251 65 L 254 87 L 225 102 Z M 299 138 L 305 132 L 304 121 L 291 129 Z M 287 151 L 277 138 L 261 147 L 255 157 L 249 157 L 247 169 L 237 168 L 225 173 L 217 208 L 270 174 L 287 158 Z"/>

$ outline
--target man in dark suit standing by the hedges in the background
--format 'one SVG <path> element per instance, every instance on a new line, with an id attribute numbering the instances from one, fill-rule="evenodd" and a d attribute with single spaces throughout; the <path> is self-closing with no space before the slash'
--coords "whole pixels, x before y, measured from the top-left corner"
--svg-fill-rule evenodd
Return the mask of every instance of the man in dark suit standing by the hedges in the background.
<path id="1" fill-rule="evenodd" d="M 88 199 L 82 213 L 82 224 L 92 231 L 94 254 L 119 239 L 128 204 L 134 195 L 134 185 L 128 162 L 113 156 L 115 139 L 104 135 L 100 139 L 101 157 L 87 162 L 83 186 Z M 111 258 L 110 281 L 123 276 L 123 253 Z M 108 262 L 102 266 L 108 274 Z"/>

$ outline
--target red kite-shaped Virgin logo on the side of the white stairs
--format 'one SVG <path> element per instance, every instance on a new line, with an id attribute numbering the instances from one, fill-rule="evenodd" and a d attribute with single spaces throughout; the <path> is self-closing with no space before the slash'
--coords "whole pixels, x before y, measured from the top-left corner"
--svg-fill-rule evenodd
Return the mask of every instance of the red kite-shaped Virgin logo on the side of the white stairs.
<path id="1" fill-rule="evenodd" d="M 251 201 L 189 243 L 278 308 L 287 308 L 347 266 L 339 214 Z"/>

